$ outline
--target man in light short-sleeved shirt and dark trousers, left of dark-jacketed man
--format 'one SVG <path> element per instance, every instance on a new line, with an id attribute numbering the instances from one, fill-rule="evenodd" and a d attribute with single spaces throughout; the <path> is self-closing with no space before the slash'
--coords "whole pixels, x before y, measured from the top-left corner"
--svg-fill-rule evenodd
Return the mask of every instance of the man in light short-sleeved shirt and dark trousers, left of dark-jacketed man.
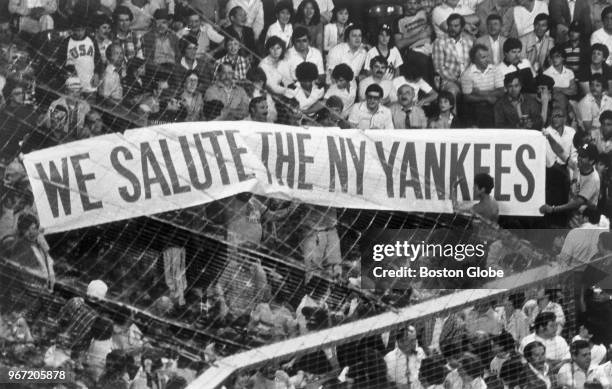
<path id="1" fill-rule="evenodd" d="M 476 44 L 470 49 L 472 64 L 461 75 L 461 90 L 465 99 L 466 125 L 478 128 L 495 126 L 494 106 L 504 94 L 504 80 L 489 63 L 487 47 Z"/>

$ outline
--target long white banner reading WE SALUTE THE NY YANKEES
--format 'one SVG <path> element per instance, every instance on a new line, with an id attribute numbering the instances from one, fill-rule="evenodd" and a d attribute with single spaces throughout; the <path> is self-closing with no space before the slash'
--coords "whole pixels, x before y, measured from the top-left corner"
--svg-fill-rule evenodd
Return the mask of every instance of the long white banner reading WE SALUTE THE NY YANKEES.
<path id="1" fill-rule="evenodd" d="M 545 138 L 523 130 L 340 130 L 178 123 L 25 156 L 46 232 L 205 204 L 241 192 L 341 208 L 452 212 L 475 173 L 504 215 L 539 215 Z"/>

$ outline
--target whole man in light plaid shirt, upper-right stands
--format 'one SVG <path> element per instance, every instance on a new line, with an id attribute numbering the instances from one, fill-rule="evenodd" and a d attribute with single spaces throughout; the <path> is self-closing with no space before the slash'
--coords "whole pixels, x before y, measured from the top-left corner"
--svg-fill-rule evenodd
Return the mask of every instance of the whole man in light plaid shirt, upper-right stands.
<path id="1" fill-rule="evenodd" d="M 451 14 L 447 20 L 448 35 L 438 37 L 433 47 L 435 71 L 442 79 L 441 89 L 453 96 L 461 91 L 459 78 L 470 63 L 470 49 L 474 42 L 464 36 L 465 19 L 459 14 Z"/>

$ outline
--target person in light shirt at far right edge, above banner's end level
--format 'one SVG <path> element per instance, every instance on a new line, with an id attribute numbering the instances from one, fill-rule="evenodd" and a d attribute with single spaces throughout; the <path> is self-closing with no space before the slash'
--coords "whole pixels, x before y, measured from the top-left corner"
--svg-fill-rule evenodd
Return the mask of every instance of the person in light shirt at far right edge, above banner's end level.
<path id="1" fill-rule="evenodd" d="M 606 84 L 601 74 L 592 75 L 589 80 L 589 92 L 578 104 L 578 125 L 592 139 L 601 139 L 601 115 L 612 110 L 612 98 L 604 91 Z"/>

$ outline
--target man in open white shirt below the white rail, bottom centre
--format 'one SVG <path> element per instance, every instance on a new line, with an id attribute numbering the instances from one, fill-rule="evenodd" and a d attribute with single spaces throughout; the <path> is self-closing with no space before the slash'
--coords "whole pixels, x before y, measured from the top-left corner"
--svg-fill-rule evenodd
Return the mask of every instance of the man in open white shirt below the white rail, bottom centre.
<path id="1" fill-rule="evenodd" d="M 398 386 L 418 386 L 419 369 L 426 356 L 419 346 L 414 326 L 400 328 L 395 336 L 395 349 L 385 355 L 387 379 Z"/>

